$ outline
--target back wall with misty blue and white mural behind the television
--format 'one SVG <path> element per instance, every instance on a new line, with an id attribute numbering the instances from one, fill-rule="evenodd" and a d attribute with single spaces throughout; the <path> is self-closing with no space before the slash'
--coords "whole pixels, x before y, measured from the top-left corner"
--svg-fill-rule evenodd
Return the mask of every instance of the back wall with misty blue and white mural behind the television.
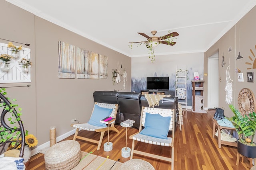
<path id="1" fill-rule="evenodd" d="M 149 76 L 168 76 L 169 90 L 175 91 L 176 69 L 188 70 L 186 96 L 188 106 L 192 106 L 191 80 L 194 80 L 194 72 L 198 72 L 199 78 L 204 76 L 204 53 L 156 56 L 153 63 L 148 57 L 132 58 L 132 92 L 147 89 L 146 78 Z"/>

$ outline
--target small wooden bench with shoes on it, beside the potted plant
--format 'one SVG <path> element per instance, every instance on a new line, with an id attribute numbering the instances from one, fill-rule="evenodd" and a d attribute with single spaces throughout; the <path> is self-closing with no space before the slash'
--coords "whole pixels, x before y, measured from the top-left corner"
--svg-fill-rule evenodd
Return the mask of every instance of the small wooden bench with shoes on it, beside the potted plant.
<path id="1" fill-rule="evenodd" d="M 237 142 L 228 142 L 228 141 L 222 141 L 220 140 L 220 131 L 222 129 L 227 129 L 227 130 L 231 130 L 231 135 L 233 134 L 233 131 L 236 130 L 235 128 L 233 127 L 226 127 L 226 126 L 220 126 L 218 124 L 218 122 L 213 119 L 213 127 L 212 127 L 212 138 L 215 137 L 215 129 L 216 129 L 216 126 L 217 126 L 217 130 L 218 130 L 218 147 L 220 148 L 221 147 L 221 144 L 222 145 L 228 145 L 228 146 L 232 146 L 232 147 L 237 147 Z"/>

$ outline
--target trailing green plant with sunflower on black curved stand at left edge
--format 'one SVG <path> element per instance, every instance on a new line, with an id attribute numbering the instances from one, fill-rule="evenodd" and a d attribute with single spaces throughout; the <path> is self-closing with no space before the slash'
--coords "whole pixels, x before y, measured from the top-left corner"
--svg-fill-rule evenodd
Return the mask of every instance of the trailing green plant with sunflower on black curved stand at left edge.
<path id="1" fill-rule="evenodd" d="M 23 122 L 20 119 L 22 108 L 17 108 L 17 104 L 10 102 L 10 98 L 5 88 L 0 88 L 0 154 L 6 150 L 20 150 L 20 157 L 24 158 L 24 163 L 28 165 L 30 159 L 30 147 L 35 147 L 38 140 L 28 131 L 24 130 Z M 16 102 L 16 99 L 12 99 Z M 7 146 L 6 146 L 7 145 Z"/>

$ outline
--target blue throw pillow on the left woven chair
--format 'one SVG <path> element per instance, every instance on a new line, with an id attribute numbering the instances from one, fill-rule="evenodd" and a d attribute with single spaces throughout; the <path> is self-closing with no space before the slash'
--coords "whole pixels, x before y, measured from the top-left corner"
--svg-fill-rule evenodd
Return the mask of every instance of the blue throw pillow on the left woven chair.
<path id="1" fill-rule="evenodd" d="M 100 107 L 96 104 L 94 104 L 94 110 L 92 112 L 92 116 L 88 123 L 90 125 L 94 126 L 102 126 L 106 127 L 107 125 L 105 123 L 100 123 L 100 120 L 104 119 L 105 117 L 110 116 L 112 113 L 113 109 L 105 108 L 105 107 Z"/>

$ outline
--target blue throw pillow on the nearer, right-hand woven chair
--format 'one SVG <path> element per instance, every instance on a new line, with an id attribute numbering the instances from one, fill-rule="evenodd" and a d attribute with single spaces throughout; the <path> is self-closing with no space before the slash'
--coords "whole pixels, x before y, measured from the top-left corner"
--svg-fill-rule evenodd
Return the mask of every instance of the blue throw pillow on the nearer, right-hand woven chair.
<path id="1" fill-rule="evenodd" d="M 172 117 L 163 117 L 159 114 L 146 113 L 144 129 L 140 134 L 167 139 Z"/>

